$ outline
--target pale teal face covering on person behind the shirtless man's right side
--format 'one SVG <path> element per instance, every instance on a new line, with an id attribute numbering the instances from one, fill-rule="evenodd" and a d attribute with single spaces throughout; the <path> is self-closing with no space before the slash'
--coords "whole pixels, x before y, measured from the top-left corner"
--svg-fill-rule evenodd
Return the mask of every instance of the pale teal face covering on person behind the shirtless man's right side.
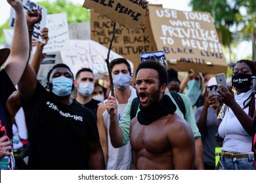
<path id="1" fill-rule="evenodd" d="M 198 101 L 198 98 L 200 97 L 200 82 L 198 80 L 190 80 L 188 82 L 188 89 L 185 92 L 185 95 L 188 96 L 190 99 L 192 106 L 196 104 L 196 101 Z"/>

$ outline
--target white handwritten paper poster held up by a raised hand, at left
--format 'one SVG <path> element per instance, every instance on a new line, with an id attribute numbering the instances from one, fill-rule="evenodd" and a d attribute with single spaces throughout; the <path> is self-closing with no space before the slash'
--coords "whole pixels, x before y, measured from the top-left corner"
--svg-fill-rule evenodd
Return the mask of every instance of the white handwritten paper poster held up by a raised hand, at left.
<path id="1" fill-rule="evenodd" d="M 69 49 L 67 14 L 47 14 L 46 26 L 48 27 L 49 41 L 43 47 L 43 53 L 58 52 Z"/>

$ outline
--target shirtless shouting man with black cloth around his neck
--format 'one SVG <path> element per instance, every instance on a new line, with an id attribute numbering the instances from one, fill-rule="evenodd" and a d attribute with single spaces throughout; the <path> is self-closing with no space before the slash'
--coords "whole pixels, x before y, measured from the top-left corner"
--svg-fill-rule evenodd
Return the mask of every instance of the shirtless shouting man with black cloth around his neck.
<path id="1" fill-rule="evenodd" d="M 164 94 L 166 87 L 167 71 L 160 63 L 140 63 L 136 71 L 140 112 L 130 126 L 133 169 L 194 169 L 193 133 L 175 113 L 175 104 Z"/>

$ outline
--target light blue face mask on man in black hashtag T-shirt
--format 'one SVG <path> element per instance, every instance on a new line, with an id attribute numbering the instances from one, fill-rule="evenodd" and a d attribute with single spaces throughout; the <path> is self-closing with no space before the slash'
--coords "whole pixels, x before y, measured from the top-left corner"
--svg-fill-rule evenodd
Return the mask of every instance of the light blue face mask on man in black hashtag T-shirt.
<path id="1" fill-rule="evenodd" d="M 73 81 L 70 78 L 60 76 L 58 78 L 54 78 L 52 84 L 52 92 L 59 97 L 70 95 L 72 92 Z"/>

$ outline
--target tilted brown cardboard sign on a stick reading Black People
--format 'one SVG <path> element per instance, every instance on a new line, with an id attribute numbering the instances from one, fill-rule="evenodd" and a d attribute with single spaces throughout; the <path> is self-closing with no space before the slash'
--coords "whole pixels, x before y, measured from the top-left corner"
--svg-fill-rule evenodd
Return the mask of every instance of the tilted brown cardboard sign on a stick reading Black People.
<path id="1" fill-rule="evenodd" d="M 85 0 L 83 7 L 137 31 L 146 13 L 146 0 Z"/>

